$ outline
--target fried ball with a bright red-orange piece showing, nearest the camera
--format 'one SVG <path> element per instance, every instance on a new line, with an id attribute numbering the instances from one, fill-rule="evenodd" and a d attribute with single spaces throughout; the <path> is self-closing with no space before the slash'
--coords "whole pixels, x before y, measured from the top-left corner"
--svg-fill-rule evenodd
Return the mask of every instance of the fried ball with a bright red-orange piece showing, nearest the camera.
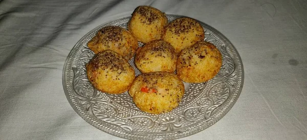
<path id="1" fill-rule="evenodd" d="M 184 85 L 173 73 L 152 72 L 139 75 L 128 92 L 140 110 L 160 114 L 179 105 Z"/>

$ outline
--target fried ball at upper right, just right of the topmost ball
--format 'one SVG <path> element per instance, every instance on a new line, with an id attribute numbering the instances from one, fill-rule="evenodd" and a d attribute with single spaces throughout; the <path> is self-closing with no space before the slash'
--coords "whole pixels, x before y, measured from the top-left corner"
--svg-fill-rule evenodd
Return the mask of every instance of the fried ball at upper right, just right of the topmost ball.
<path id="1" fill-rule="evenodd" d="M 169 42 L 180 53 L 181 50 L 189 48 L 196 42 L 205 38 L 203 27 L 198 21 L 183 17 L 170 22 L 164 29 L 162 39 Z"/>

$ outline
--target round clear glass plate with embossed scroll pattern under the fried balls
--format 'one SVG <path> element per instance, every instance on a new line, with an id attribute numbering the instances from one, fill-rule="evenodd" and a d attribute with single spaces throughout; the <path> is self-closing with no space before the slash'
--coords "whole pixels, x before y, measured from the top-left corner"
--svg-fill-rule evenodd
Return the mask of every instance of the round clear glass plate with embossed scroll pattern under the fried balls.
<path id="1" fill-rule="evenodd" d="M 183 17 L 166 14 L 169 21 Z M 171 112 L 149 114 L 139 110 L 127 92 L 111 95 L 93 88 L 86 77 L 85 64 L 94 56 L 86 43 L 103 27 L 127 29 L 131 16 L 103 24 L 87 33 L 74 46 L 63 68 L 63 88 L 74 110 L 96 128 L 128 139 L 175 139 L 200 132 L 220 120 L 235 104 L 244 82 L 242 60 L 230 41 L 214 28 L 200 22 L 205 41 L 222 53 L 220 72 L 211 80 L 185 84 L 180 105 Z M 142 43 L 139 43 L 141 46 Z M 133 59 L 129 63 L 135 68 Z"/>

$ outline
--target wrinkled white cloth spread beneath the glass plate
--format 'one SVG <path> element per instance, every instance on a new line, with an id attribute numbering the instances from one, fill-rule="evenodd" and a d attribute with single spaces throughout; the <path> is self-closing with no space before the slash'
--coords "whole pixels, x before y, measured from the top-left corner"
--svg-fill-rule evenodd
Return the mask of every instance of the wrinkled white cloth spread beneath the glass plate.
<path id="1" fill-rule="evenodd" d="M 212 26 L 244 64 L 242 93 L 213 126 L 182 139 L 307 139 L 307 2 L 0 1 L 0 139 L 121 139 L 86 123 L 62 87 L 82 36 L 139 5 Z"/>

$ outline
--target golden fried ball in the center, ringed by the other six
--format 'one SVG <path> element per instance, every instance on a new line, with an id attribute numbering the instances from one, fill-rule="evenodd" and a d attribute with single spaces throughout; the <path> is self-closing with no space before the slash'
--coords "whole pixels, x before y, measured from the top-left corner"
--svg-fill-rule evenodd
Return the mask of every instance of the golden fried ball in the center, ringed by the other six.
<path id="1" fill-rule="evenodd" d="M 153 40 L 137 50 L 135 64 L 142 73 L 176 70 L 175 49 L 166 41 Z"/>

